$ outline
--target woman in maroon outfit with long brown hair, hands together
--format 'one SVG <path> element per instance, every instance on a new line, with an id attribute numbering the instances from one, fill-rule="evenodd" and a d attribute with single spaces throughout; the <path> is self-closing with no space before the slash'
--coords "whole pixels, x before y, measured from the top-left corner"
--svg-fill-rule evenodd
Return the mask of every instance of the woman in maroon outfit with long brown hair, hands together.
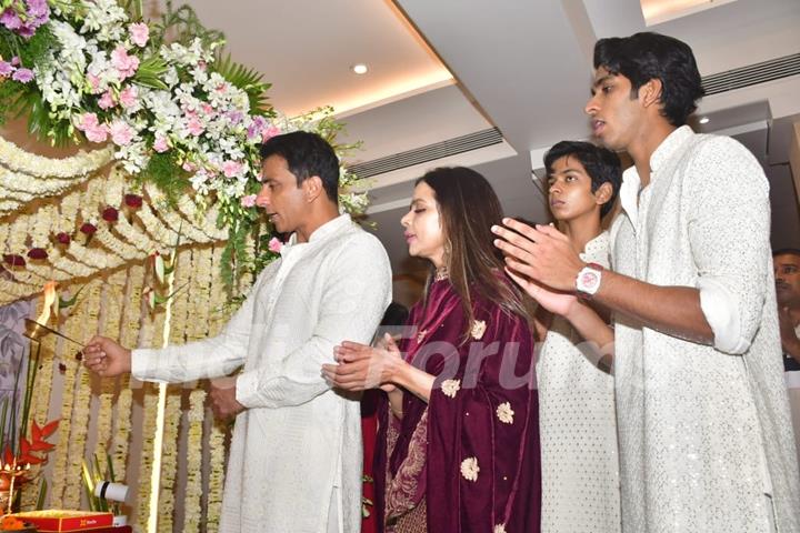
<path id="1" fill-rule="evenodd" d="M 344 342 L 323 372 L 381 388 L 376 513 L 381 531 L 538 532 L 539 405 L 526 308 L 492 245 L 500 203 L 479 173 L 437 169 L 402 218 L 409 253 L 431 262 L 396 346 Z"/>

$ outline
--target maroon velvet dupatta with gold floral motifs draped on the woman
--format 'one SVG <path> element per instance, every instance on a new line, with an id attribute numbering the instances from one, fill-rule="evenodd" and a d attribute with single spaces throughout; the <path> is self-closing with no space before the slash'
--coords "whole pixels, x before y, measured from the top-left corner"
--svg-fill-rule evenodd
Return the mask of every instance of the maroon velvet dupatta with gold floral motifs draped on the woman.
<path id="1" fill-rule="evenodd" d="M 417 505 L 427 506 L 428 531 L 436 533 L 539 531 L 531 332 L 524 319 L 480 296 L 473 312 L 464 341 L 466 316 L 448 280 L 431 284 L 428 305 L 411 310 L 413 331 L 400 350 L 438 378 L 429 403 L 403 395 L 402 421 L 381 394 L 374 467 L 381 531 L 396 531 L 392 524 Z"/>

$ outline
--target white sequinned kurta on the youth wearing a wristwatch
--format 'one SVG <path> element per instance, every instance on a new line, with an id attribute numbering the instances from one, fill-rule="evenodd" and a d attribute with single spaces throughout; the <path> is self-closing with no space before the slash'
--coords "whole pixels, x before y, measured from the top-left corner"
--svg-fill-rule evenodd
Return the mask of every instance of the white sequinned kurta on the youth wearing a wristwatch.
<path id="1" fill-rule="evenodd" d="M 620 190 L 612 268 L 693 286 L 714 345 L 618 315 L 622 526 L 642 532 L 800 532 L 800 474 L 781 368 L 769 185 L 738 142 L 673 131 Z M 767 496 L 767 495 L 769 496 Z"/>

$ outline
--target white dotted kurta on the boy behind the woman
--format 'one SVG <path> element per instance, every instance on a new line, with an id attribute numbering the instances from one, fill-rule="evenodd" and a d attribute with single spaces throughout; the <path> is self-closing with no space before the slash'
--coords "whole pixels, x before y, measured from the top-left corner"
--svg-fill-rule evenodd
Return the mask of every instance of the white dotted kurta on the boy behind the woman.
<path id="1" fill-rule="evenodd" d="M 581 259 L 609 266 L 609 237 Z M 537 362 L 542 533 L 619 533 L 620 494 L 613 378 L 587 359 L 582 338 L 554 316 Z"/>

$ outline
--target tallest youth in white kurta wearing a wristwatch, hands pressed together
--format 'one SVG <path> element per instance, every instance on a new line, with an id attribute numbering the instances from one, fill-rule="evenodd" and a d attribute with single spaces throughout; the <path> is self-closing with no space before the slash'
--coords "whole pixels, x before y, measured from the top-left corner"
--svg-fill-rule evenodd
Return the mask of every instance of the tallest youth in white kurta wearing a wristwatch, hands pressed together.
<path id="1" fill-rule="evenodd" d="M 539 283 L 523 282 L 531 295 L 613 344 L 623 531 L 798 533 L 763 171 L 736 141 L 682 125 L 702 95 L 684 43 L 603 39 L 594 67 L 594 133 L 634 163 L 613 271 L 587 268 L 554 229 L 498 232 Z M 576 291 L 614 311 L 614 329 Z"/>

